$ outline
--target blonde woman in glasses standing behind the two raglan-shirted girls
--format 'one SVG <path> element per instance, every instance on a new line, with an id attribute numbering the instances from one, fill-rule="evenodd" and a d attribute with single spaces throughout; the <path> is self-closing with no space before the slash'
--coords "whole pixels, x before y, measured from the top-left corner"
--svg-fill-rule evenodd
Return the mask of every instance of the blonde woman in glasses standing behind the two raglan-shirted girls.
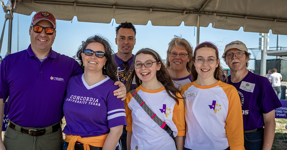
<path id="1" fill-rule="evenodd" d="M 191 78 L 192 61 L 190 61 L 192 57 L 191 44 L 184 38 L 174 36 L 168 43 L 166 68 L 177 89 L 193 81 Z"/>

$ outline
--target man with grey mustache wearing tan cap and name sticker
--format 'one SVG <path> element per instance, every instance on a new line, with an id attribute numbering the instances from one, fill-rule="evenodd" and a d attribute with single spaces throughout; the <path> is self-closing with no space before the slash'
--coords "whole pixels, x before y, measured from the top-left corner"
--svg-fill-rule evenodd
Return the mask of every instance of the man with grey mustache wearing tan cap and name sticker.
<path id="1" fill-rule="evenodd" d="M 245 149 L 271 149 L 276 126 L 274 109 L 282 104 L 266 77 L 247 70 L 249 56 L 241 41 L 225 46 L 222 58 L 231 74 L 227 83 L 236 87 L 241 98 Z"/>

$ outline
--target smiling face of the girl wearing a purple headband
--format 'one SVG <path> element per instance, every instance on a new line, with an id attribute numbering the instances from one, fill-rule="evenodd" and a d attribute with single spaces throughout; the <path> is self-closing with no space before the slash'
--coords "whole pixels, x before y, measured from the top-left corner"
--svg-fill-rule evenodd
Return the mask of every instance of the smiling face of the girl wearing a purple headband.
<path id="1" fill-rule="evenodd" d="M 217 59 L 215 49 L 203 47 L 196 50 L 196 56 L 195 59 Z M 204 63 L 198 63 L 197 61 L 193 62 L 195 66 L 195 70 L 198 73 L 197 80 L 214 80 L 214 72 L 215 69 L 218 67 L 219 60 L 214 61 L 214 63 L 207 63 L 207 61 L 204 61 Z"/>

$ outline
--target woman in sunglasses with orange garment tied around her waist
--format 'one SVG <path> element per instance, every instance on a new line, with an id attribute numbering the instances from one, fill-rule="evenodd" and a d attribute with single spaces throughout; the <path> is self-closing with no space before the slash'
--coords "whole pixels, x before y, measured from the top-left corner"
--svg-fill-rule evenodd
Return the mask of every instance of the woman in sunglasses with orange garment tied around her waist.
<path id="1" fill-rule="evenodd" d="M 127 123 L 124 102 L 113 95 L 117 67 L 112 54 L 102 36 L 92 36 L 79 46 L 75 58 L 84 73 L 67 83 L 63 150 L 116 149 Z"/>

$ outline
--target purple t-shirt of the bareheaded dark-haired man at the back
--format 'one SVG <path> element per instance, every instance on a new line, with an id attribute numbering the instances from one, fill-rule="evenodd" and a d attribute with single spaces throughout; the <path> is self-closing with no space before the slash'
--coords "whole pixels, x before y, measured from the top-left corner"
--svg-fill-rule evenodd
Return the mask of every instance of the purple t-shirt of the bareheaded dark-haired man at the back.
<path id="1" fill-rule="evenodd" d="M 120 59 L 116 54 L 114 54 L 115 56 L 115 60 L 116 60 L 116 64 L 117 64 L 117 72 L 115 73 L 116 74 L 116 77 L 117 77 L 117 81 L 121 81 L 123 82 L 124 84 L 127 83 L 127 80 L 129 79 L 129 77 L 131 76 L 131 73 L 133 72 L 133 59 L 135 58 L 135 55 L 132 54 L 131 58 L 129 58 L 127 60 L 127 62 L 129 63 L 129 71 L 127 71 L 127 75 L 125 76 L 124 75 L 124 71 L 125 71 L 125 67 L 123 66 L 123 61 L 122 59 Z M 134 82 L 134 81 L 133 81 Z M 133 89 L 136 88 L 136 84 L 135 82 L 133 83 Z"/>

